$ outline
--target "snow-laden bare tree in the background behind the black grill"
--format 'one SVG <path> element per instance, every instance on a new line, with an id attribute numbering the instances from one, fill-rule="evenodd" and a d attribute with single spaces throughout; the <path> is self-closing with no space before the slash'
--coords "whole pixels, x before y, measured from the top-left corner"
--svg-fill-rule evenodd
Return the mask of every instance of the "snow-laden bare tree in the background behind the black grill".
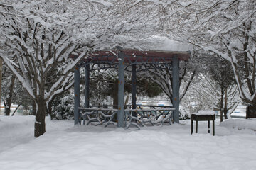
<path id="1" fill-rule="evenodd" d="M 234 84 L 229 85 L 223 92 L 218 81 L 209 75 L 198 74 L 184 96 L 182 105 L 191 113 L 206 109 L 222 112 L 226 110 L 225 118 L 230 118 L 230 114 L 240 103 L 238 87 Z"/>

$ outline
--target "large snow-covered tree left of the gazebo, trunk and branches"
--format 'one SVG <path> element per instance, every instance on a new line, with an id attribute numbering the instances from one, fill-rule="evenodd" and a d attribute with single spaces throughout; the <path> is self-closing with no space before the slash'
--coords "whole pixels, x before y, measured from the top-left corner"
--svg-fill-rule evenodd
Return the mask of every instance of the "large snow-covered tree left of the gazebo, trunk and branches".
<path id="1" fill-rule="evenodd" d="M 72 85 L 73 69 L 88 51 L 135 47 L 158 23 L 151 1 L 6 2 L 0 16 L 6 50 L 0 57 L 36 103 L 35 137 L 46 132 L 46 105 Z"/>

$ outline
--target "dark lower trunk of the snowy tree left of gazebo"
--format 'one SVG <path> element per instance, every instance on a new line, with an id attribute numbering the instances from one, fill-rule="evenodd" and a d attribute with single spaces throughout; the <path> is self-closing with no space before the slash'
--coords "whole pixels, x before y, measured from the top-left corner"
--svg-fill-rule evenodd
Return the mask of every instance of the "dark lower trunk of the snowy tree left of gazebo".
<path id="1" fill-rule="evenodd" d="M 36 122 L 35 122 L 35 137 L 39 137 L 46 132 L 46 102 L 43 98 L 36 100 L 37 111 L 36 111 Z"/>

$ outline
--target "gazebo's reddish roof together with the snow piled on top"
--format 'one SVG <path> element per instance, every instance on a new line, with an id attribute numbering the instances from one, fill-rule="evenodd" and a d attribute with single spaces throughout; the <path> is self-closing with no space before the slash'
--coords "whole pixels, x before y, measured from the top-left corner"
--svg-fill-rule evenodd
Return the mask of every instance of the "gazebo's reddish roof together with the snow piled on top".
<path id="1" fill-rule="evenodd" d="M 124 62 L 171 62 L 173 57 L 178 57 L 178 60 L 188 60 L 191 55 L 192 45 L 183 42 L 177 42 L 164 37 L 155 36 L 143 43 L 137 48 L 124 46 L 119 48 L 119 51 L 124 52 Z M 118 51 L 114 50 L 99 50 L 90 52 L 89 57 L 83 62 L 118 62 Z M 70 57 L 75 57 L 72 55 Z"/>

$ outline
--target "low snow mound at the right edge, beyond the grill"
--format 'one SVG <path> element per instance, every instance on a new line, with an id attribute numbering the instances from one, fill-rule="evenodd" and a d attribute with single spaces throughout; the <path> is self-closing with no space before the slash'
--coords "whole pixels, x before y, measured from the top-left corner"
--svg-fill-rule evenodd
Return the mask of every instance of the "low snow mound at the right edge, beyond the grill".
<path id="1" fill-rule="evenodd" d="M 225 128 L 249 129 L 256 131 L 256 119 L 229 119 L 220 123 Z"/>

